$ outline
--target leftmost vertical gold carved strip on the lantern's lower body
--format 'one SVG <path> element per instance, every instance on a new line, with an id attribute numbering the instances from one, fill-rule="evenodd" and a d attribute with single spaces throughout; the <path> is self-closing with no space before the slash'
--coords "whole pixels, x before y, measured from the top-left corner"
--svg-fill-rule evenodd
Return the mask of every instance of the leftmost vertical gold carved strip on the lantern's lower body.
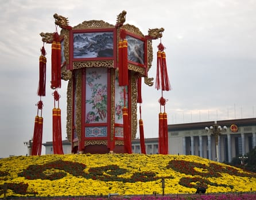
<path id="1" fill-rule="evenodd" d="M 72 85 L 73 85 L 73 81 L 72 79 L 69 79 L 68 87 L 67 87 L 67 124 L 66 124 L 67 137 L 69 142 L 72 142 L 72 114 L 73 114 Z"/>

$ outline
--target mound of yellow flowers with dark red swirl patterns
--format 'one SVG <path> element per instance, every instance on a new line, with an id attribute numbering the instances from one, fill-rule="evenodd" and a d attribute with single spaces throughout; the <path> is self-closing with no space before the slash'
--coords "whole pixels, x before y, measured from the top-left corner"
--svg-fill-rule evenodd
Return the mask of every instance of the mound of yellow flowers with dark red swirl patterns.
<path id="1" fill-rule="evenodd" d="M 193 155 L 75 154 L 0 160 L 0 198 L 162 194 L 163 180 L 165 194 L 194 194 L 199 187 L 207 193 L 256 191 L 255 173 Z"/>

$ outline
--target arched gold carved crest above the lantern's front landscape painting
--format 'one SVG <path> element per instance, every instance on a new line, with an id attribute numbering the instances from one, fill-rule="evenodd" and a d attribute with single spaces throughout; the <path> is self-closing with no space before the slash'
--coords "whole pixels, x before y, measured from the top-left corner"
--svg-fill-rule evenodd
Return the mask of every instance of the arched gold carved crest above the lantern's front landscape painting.
<path id="1" fill-rule="evenodd" d="M 79 25 L 74 26 L 73 30 L 77 29 L 104 29 L 104 28 L 114 28 L 114 25 L 104 22 L 103 20 L 90 20 L 79 23 Z"/>

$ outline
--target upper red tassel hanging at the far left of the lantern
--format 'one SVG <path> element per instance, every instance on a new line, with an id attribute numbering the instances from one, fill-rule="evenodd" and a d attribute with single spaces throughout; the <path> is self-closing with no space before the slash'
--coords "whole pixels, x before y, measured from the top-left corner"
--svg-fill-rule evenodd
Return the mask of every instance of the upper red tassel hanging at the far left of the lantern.
<path id="1" fill-rule="evenodd" d="M 39 58 L 39 83 L 37 89 L 37 95 L 45 96 L 45 83 L 46 83 L 46 57 L 44 46 L 41 49 L 41 55 Z"/>

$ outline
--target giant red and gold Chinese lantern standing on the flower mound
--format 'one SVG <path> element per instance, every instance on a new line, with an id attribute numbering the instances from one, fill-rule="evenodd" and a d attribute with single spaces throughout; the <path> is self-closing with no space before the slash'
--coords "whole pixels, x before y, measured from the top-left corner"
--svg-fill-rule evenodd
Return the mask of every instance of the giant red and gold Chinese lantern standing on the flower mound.
<path id="1" fill-rule="evenodd" d="M 117 16 L 115 25 L 92 20 L 71 27 L 67 18 L 53 17 L 60 34 L 55 31 L 41 36 L 52 43 L 51 87 L 58 105 L 59 78 L 68 81 L 67 138 L 72 153 L 132 153 L 137 103 L 141 113 L 141 78 L 153 85 L 153 78 L 148 78 L 152 39 L 160 38 L 163 29 L 149 29 L 148 35 L 143 35 L 137 27 L 125 24 L 126 11 Z M 59 107 L 53 109 L 53 140 L 56 138 L 57 144 L 53 149 L 60 149 L 55 151 L 60 154 L 58 115 Z M 139 130 L 142 153 L 146 153 L 141 115 Z"/>

